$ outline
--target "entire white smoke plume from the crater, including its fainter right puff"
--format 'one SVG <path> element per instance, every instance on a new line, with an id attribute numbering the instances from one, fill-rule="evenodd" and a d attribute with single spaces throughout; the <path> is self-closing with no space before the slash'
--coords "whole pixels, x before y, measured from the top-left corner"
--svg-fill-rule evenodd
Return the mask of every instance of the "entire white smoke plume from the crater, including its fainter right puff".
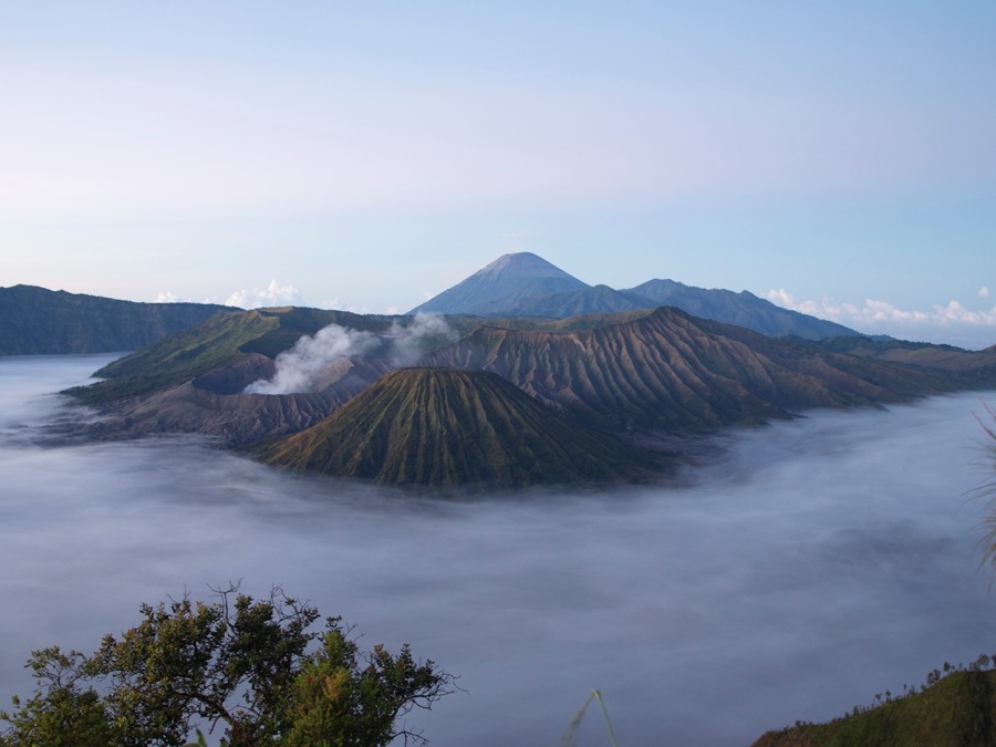
<path id="1" fill-rule="evenodd" d="M 311 392 L 336 361 L 364 357 L 386 346 L 386 357 L 395 366 L 411 365 L 428 350 L 457 340 L 457 333 L 439 314 L 416 314 L 407 326 L 394 322 L 384 336 L 330 324 L 313 338 L 307 334 L 294 346 L 277 356 L 277 372 L 269 381 L 246 387 L 248 394 L 291 394 Z"/>

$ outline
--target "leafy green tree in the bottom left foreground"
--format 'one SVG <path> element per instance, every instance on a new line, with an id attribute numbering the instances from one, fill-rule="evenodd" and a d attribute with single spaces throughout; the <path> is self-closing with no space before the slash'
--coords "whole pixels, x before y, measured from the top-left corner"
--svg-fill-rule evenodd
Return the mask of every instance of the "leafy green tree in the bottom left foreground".
<path id="1" fill-rule="evenodd" d="M 318 611 L 280 590 L 217 595 L 143 605 L 142 622 L 92 656 L 33 652 L 38 687 L 0 712 L 10 725 L 0 745 L 179 746 L 195 724 L 224 728 L 229 747 L 425 741 L 397 719 L 453 691 L 432 661 L 416 662 L 407 645 L 361 654 L 338 618 L 312 631 Z"/>

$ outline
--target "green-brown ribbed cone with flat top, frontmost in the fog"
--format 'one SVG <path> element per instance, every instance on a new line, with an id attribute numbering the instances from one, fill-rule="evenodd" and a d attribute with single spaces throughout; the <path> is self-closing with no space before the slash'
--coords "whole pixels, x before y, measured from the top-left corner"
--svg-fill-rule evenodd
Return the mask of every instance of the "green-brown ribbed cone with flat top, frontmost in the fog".
<path id="1" fill-rule="evenodd" d="M 647 457 L 568 422 L 494 373 L 402 369 L 318 425 L 278 440 L 272 465 L 382 484 L 523 487 L 645 481 Z"/>

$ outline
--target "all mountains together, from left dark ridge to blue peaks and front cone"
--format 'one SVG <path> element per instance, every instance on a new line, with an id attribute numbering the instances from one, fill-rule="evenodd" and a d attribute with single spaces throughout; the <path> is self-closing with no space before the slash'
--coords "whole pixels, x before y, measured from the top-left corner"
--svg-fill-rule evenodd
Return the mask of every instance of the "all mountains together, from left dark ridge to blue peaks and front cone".
<path id="1" fill-rule="evenodd" d="M 446 315 L 18 286 L 0 289 L 0 353 L 137 349 L 71 391 L 102 417 L 66 437 L 198 433 L 290 469 L 440 488 L 657 479 L 724 426 L 996 386 L 996 346 L 865 338 L 671 280 L 589 287 L 530 253 L 421 311 Z"/>

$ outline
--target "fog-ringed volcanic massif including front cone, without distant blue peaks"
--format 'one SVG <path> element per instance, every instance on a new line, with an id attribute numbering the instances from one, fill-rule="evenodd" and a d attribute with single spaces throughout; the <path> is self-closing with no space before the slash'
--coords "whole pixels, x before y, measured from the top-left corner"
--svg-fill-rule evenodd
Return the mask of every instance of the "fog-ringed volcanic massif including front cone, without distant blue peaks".
<path id="1" fill-rule="evenodd" d="M 73 390 L 103 416 L 66 435 L 200 433 L 291 469 L 403 485 L 633 481 L 664 474 L 687 436 L 723 426 L 996 385 L 996 349 L 860 338 L 849 349 L 840 338 L 830 350 L 666 307 L 449 321 L 450 334 L 422 338 L 401 361 L 411 317 L 217 314 Z M 363 351 L 324 362 L 307 391 L 247 392 L 323 329 L 363 336 Z M 395 375 L 406 365 L 418 373 Z M 464 375 L 475 372 L 489 375 Z"/>

